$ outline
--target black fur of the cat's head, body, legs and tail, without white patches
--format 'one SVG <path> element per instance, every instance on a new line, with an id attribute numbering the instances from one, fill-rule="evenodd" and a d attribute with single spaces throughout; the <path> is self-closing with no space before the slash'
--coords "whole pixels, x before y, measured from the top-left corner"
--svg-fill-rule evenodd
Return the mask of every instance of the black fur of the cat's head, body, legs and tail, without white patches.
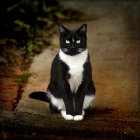
<path id="1" fill-rule="evenodd" d="M 87 37 L 86 37 L 87 25 L 83 24 L 77 30 L 68 30 L 63 25 L 59 26 L 60 31 L 60 49 L 70 56 L 81 53 L 87 49 Z M 76 43 L 72 39 L 81 40 L 80 43 Z M 66 40 L 69 40 L 70 43 L 66 44 Z M 48 91 L 55 98 L 63 99 L 66 113 L 72 116 L 81 115 L 82 107 L 84 102 L 85 95 L 95 95 L 95 87 L 92 81 L 92 70 L 89 60 L 84 64 L 83 79 L 81 84 L 78 87 L 76 93 L 73 93 L 70 89 L 70 84 L 68 82 L 71 75 L 69 74 L 69 66 L 65 64 L 61 59 L 59 54 L 56 55 L 52 63 L 51 68 L 51 79 L 48 86 Z M 55 107 L 49 100 L 46 98 L 47 93 L 37 93 L 34 92 L 30 95 L 31 98 L 40 99 L 50 103 L 51 112 L 59 112 L 57 107 Z M 75 106 L 73 105 L 73 102 Z"/>

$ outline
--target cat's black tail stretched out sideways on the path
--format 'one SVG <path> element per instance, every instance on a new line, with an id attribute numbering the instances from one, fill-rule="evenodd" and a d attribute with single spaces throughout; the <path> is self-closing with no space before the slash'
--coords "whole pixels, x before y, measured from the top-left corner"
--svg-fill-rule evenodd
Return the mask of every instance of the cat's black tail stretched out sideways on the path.
<path id="1" fill-rule="evenodd" d="M 45 101 L 45 102 L 48 102 L 48 103 L 50 102 L 50 99 L 48 98 L 47 93 L 46 92 L 42 92 L 42 91 L 32 92 L 29 95 L 29 97 L 33 98 L 33 99 Z"/>

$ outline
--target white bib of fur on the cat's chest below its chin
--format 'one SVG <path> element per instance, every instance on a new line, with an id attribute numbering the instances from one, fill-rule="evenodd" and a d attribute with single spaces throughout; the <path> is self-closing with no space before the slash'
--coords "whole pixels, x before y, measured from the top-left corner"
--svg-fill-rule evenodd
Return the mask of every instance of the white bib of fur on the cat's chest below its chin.
<path id="1" fill-rule="evenodd" d="M 60 59 L 69 66 L 69 84 L 71 91 L 75 93 L 83 79 L 83 66 L 88 57 L 88 50 L 86 49 L 80 54 L 74 56 L 67 55 L 60 50 L 59 56 Z"/>

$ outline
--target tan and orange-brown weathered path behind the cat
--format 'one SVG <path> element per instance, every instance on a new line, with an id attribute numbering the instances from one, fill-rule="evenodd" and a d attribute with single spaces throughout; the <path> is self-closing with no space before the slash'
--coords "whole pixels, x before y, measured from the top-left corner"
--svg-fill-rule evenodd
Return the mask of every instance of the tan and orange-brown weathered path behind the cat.
<path id="1" fill-rule="evenodd" d="M 78 4 L 76 4 L 78 3 Z M 88 14 L 88 48 L 96 87 L 94 117 L 125 121 L 139 121 L 138 111 L 138 6 L 135 2 L 73 1 L 62 4 L 82 9 Z M 78 5 L 78 7 L 77 7 Z M 65 23 L 77 28 L 83 22 Z M 57 30 L 57 28 L 56 28 Z M 59 51 L 58 34 L 52 45 L 35 56 L 30 67 L 32 76 L 25 87 L 16 111 L 50 114 L 48 104 L 29 99 L 33 91 L 46 91 L 51 63 Z M 128 117 L 128 114 L 131 114 Z M 50 114 L 51 115 L 51 114 Z M 89 119 L 92 119 L 90 115 Z"/>

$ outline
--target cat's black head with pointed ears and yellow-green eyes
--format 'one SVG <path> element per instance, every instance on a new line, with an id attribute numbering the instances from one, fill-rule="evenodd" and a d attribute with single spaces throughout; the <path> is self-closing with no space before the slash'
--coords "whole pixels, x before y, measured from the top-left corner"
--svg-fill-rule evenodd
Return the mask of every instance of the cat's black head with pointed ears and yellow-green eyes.
<path id="1" fill-rule="evenodd" d="M 69 30 L 59 25 L 60 49 L 68 55 L 76 55 L 87 48 L 87 25 L 83 24 L 78 29 Z"/>

